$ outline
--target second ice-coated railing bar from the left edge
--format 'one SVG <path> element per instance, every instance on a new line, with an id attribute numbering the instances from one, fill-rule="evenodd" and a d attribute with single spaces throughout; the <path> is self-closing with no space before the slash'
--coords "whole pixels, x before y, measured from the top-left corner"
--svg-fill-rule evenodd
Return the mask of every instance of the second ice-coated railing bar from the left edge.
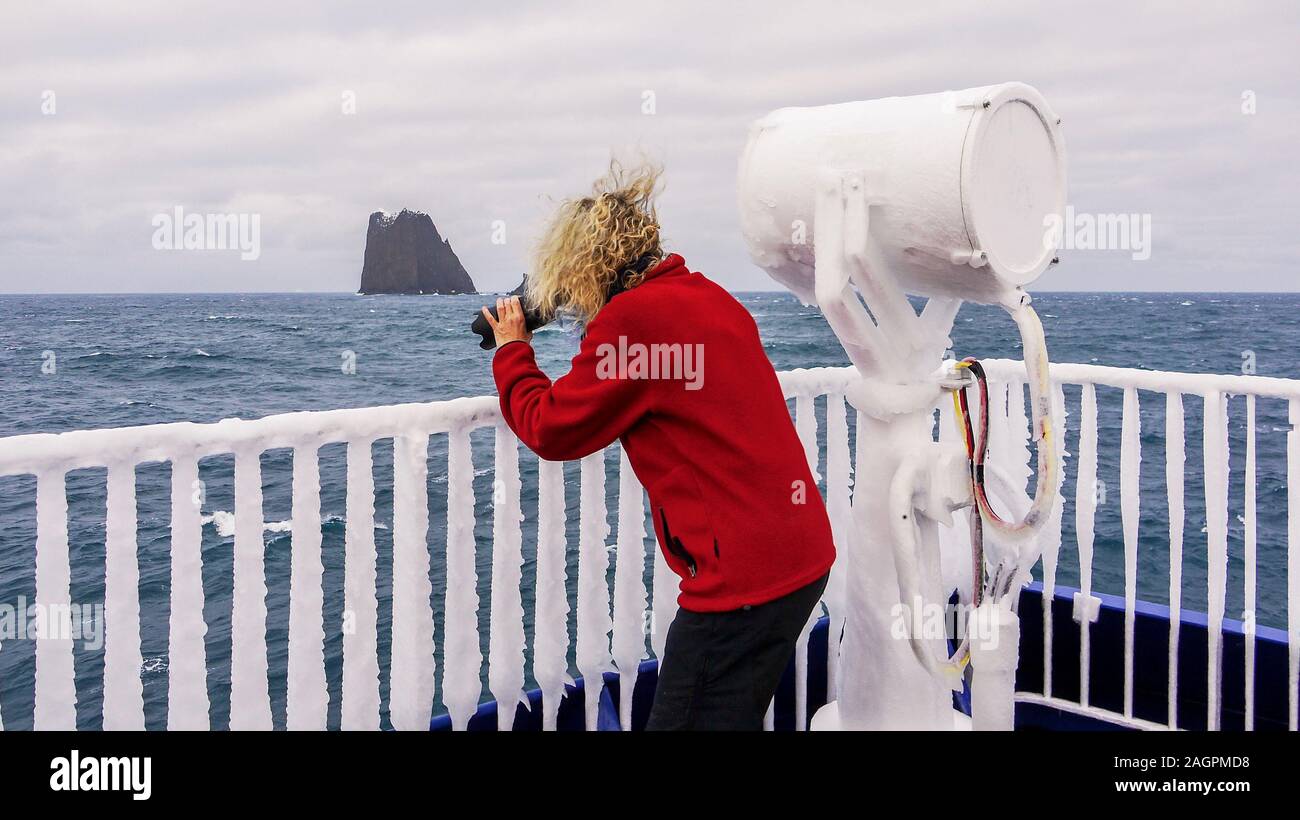
<path id="1" fill-rule="evenodd" d="M 143 730 L 140 568 L 135 550 L 135 465 L 108 468 L 104 521 L 104 729 Z"/>

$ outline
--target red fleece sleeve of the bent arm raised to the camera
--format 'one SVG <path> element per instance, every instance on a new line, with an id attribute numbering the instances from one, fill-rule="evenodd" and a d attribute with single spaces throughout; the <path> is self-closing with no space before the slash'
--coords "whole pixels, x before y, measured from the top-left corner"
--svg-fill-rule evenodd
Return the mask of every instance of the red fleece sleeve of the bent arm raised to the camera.
<path id="1" fill-rule="evenodd" d="M 493 357 L 506 424 L 549 461 L 603 450 L 650 409 L 653 382 L 627 378 L 607 359 L 618 351 L 610 325 L 593 321 L 588 326 L 569 372 L 554 383 L 538 369 L 526 342 L 504 344 Z"/>

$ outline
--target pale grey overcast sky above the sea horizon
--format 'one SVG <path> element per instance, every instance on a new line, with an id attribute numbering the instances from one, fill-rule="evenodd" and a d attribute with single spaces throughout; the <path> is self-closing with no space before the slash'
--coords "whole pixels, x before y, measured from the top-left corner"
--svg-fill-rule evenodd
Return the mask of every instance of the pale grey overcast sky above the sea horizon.
<path id="1" fill-rule="evenodd" d="M 667 166 L 668 247 L 768 288 L 751 121 L 1010 79 L 1063 117 L 1078 212 L 1150 214 L 1150 259 L 1067 251 L 1039 290 L 1300 290 L 1294 0 L 515 5 L 5 3 L 0 292 L 352 291 L 368 214 L 404 207 L 504 288 L 630 151 Z M 260 257 L 155 250 L 176 207 L 260 214 Z"/>

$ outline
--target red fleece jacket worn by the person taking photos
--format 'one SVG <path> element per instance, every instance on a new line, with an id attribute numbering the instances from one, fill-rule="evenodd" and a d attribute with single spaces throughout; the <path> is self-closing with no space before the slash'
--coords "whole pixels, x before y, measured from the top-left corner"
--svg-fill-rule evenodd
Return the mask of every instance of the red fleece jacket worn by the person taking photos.
<path id="1" fill-rule="evenodd" d="M 552 383 L 523 342 L 497 351 L 493 373 L 538 456 L 623 443 L 682 608 L 766 603 L 829 570 L 831 524 L 758 326 L 680 256 L 601 309 L 567 376 Z"/>

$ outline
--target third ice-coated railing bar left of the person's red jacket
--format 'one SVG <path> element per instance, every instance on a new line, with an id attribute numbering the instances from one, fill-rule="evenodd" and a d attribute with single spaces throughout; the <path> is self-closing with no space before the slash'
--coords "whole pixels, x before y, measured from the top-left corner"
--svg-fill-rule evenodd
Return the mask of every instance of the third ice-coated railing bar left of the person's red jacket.
<path id="1" fill-rule="evenodd" d="M 577 669 L 585 685 L 586 730 L 594 732 L 610 668 L 610 534 L 604 508 L 604 452 L 581 461 L 581 533 L 577 560 Z"/>

